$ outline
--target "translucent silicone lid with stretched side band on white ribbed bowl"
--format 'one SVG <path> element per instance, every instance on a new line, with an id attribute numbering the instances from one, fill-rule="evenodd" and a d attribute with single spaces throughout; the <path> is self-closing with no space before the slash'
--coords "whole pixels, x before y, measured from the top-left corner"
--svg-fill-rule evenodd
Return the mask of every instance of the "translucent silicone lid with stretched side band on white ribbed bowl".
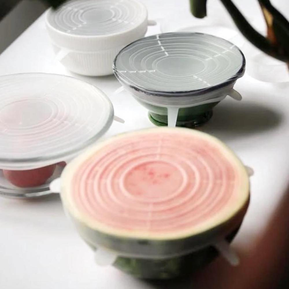
<path id="1" fill-rule="evenodd" d="M 144 35 L 147 9 L 136 0 L 68 1 L 48 10 L 46 24 L 58 45 L 95 51 L 127 45 Z"/>

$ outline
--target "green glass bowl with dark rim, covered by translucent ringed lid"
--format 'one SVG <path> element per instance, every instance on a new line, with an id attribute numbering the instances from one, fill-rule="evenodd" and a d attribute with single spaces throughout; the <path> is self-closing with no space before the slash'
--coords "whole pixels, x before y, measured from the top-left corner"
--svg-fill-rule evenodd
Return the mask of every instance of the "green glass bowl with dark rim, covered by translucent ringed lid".
<path id="1" fill-rule="evenodd" d="M 148 36 L 124 47 L 116 55 L 113 71 L 123 87 L 149 110 L 152 123 L 193 128 L 207 122 L 212 108 L 227 95 L 241 99 L 233 86 L 244 75 L 245 58 L 225 39 L 173 32 Z"/>

